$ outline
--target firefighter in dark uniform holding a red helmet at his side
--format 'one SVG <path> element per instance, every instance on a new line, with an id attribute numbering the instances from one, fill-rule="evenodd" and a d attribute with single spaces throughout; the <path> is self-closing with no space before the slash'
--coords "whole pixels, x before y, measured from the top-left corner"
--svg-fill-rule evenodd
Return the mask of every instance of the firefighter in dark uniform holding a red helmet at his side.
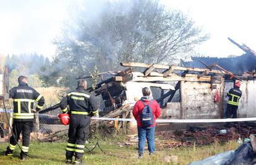
<path id="1" fill-rule="evenodd" d="M 72 163 L 73 156 L 75 156 L 74 164 L 84 164 L 82 157 L 85 140 L 89 134 L 90 117 L 98 113 L 95 96 L 86 91 L 87 82 L 80 79 L 77 86 L 77 89 L 68 93 L 60 103 L 62 112 L 70 114 L 69 140 L 66 147 L 67 164 Z"/>

